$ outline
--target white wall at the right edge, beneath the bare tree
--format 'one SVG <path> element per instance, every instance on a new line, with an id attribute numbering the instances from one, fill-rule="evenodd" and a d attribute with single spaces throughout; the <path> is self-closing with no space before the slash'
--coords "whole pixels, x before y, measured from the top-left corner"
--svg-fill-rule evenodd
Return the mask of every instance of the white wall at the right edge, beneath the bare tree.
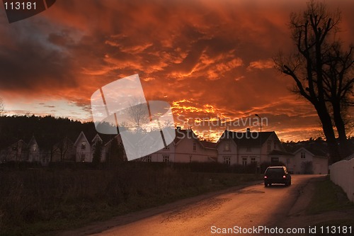
<path id="1" fill-rule="evenodd" d="M 342 187 L 350 201 L 354 202 L 354 158 L 336 162 L 330 166 L 331 181 Z"/>

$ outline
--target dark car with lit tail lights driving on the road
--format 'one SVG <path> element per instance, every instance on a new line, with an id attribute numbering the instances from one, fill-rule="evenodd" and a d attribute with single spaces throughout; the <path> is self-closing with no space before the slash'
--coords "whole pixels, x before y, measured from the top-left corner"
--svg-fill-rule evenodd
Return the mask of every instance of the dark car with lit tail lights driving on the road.
<path id="1" fill-rule="evenodd" d="M 268 167 L 264 172 L 264 186 L 271 186 L 272 184 L 291 185 L 291 175 L 287 172 L 286 167 Z"/>

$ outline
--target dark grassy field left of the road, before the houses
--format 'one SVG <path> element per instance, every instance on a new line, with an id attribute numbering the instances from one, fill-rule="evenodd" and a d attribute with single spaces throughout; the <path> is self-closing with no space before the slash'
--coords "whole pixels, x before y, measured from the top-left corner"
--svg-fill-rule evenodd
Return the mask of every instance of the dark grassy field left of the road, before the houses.
<path id="1" fill-rule="evenodd" d="M 126 163 L 115 169 L 1 169 L 0 235 L 52 235 L 261 179 Z"/>

